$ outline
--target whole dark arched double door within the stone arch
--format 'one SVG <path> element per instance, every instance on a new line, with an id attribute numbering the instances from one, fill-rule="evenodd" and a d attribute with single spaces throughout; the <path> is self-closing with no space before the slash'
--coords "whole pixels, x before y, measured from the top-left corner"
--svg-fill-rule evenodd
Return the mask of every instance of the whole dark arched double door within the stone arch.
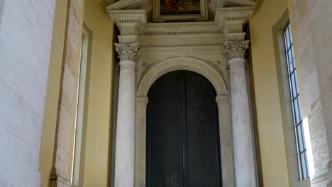
<path id="1" fill-rule="evenodd" d="M 170 72 L 148 94 L 147 187 L 220 187 L 216 91 L 194 72 Z"/>

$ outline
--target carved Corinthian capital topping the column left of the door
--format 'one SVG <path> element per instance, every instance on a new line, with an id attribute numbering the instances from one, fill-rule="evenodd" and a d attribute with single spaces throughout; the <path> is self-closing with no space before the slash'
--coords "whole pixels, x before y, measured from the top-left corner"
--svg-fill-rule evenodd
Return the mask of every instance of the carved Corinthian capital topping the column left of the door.
<path id="1" fill-rule="evenodd" d="M 133 62 L 138 62 L 140 57 L 140 50 L 138 42 L 135 43 L 114 43 L 116 46 L 116 52 L 118 52 L 118 57 L 120 61 L 131 60 Z"/>

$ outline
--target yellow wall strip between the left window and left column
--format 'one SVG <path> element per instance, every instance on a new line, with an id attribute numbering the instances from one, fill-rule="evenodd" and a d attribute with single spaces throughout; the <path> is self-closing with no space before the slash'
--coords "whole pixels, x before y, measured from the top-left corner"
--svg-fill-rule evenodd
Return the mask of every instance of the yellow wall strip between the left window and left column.
<path id="1" fill-rule="evenodd" d="M 92 31 L 83 186 L 107 186 L 111 154 L 114 23 L 100 1 L 85 0 L 84 23 Z"/>

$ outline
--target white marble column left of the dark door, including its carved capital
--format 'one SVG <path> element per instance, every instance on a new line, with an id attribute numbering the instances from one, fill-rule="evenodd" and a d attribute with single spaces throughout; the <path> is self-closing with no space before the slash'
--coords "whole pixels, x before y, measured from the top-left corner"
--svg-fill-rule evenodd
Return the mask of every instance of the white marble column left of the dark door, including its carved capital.
<path id="1" fill-rule="evenodd" d="M 133 187 L 135 174 L 135 63 L 138 43 L 116 43 L 120 58 L 116 123 L 115 187 Z"/>

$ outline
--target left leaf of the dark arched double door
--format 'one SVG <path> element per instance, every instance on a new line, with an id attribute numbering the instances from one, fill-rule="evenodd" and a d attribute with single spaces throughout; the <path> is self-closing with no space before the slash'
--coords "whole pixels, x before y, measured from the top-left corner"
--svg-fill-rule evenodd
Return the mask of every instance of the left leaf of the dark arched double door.
<path id="1" fill-rule="evenodd" d="M 177 79 L 177 74 L 167 74 L 157 80 L 149 98 L 147 186 L 182 186 L 182 140 L 179 140 L 182 125 Z"/>

